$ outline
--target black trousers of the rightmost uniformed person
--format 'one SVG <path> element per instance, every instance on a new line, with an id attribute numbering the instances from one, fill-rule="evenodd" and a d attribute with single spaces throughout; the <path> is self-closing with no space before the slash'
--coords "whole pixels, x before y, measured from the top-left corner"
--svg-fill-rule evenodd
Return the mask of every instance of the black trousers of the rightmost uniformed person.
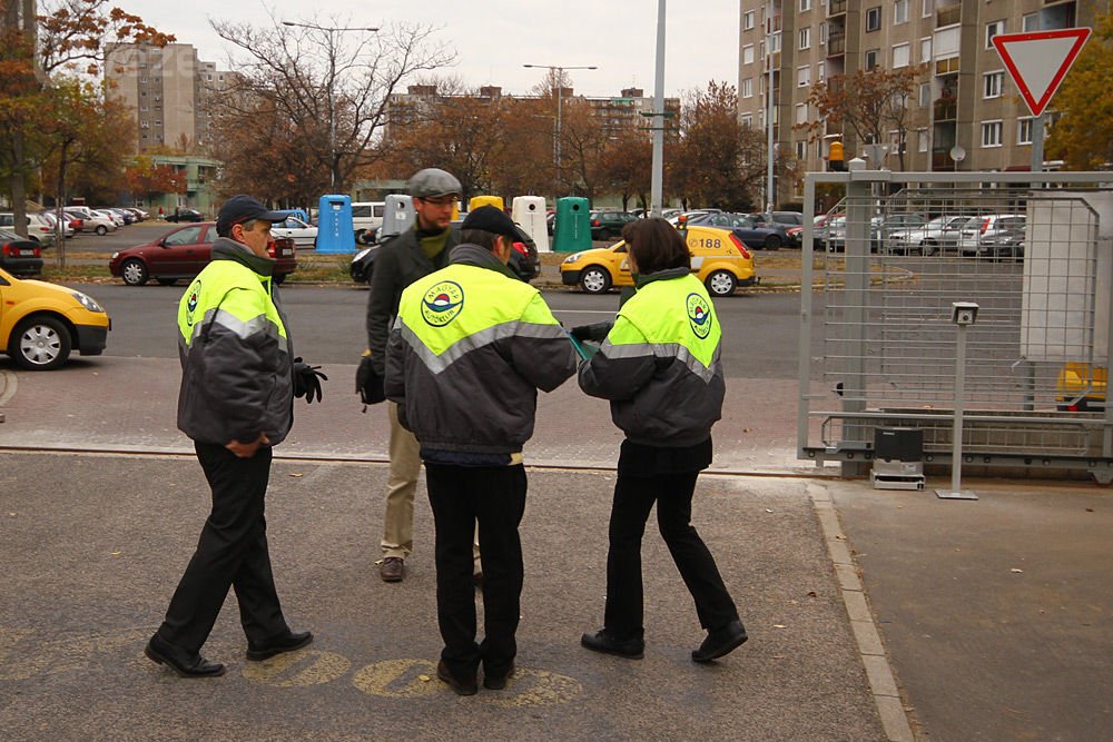
<path id="1" fill-rule="evenodd" d="M 698 476 L 699 472 L 652 477 L 619 474 L 611 508 L 603 616 L 603 626 L 612 636 L 641 639 L 644 634 L 641 537 L 654 502 L 658 527 L 696 601 L 700 625 L 715 630 L 738 620 L 738 610 L 722 584 L 715 558 L 691 525 L 692 493 Z"/>

